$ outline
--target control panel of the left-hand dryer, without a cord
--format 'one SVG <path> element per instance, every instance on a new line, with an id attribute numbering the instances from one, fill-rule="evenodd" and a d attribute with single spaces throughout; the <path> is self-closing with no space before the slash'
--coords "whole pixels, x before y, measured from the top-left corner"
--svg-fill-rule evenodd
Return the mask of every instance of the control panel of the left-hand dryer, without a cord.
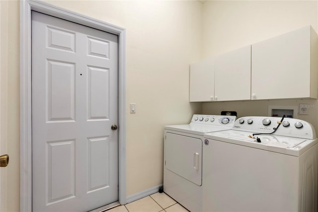
<path id="1" fill-rule="evenodd" d="M 194 114 L 191 119 L 191 124 L 206 124 L 206 125 L 227 125 L 233 126 L 236 116 L 222 116 L 222 115 L 200 115 Z"/>

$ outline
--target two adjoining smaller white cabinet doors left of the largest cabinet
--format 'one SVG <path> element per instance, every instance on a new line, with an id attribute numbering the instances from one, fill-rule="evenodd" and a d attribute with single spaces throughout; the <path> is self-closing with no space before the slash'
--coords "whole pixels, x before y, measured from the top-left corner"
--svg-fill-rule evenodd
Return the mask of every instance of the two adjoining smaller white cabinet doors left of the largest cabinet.
<path id="1" fill-rule="evenodd" d="M 250 99 L 251 46 L 190 65 L 190 102 Z"/>

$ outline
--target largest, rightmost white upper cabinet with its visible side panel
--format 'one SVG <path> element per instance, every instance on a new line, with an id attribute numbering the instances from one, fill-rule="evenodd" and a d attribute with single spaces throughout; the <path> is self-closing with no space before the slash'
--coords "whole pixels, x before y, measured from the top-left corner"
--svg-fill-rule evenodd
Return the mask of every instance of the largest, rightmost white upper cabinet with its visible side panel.
<path id="1" fill-rule="evenodd" d="M 311 26 L 252 45 L 251 99 L 317 98 L 317 34 Z"/>

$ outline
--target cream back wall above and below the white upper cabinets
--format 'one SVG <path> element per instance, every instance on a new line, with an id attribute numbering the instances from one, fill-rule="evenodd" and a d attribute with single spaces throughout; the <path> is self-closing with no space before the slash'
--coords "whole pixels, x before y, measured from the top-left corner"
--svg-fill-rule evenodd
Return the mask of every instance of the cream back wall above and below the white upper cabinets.
<path id="1" fill-rule="evenodd" d="M 206 1 L 203 7 L 203 58 L 307 25 L 312 25 L 318 32 L 316 0 Z M 238 117 L 268 116 L 268 106 L 298 108 L 299 103 L 308 103 L 310 107 L 309 115 L 298 115 L 298 118 L 310 122 L 318 133 L 318 100 L 313 99 L 203 103 L 202 113 L 237 111 Z"/>

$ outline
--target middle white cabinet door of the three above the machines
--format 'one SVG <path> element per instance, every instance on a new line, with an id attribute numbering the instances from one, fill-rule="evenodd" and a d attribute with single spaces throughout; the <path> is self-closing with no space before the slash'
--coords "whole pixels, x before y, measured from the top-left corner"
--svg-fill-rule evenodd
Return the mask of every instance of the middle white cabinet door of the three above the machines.
<path id="1" fill-rule="evenodd" d="M 246 46 L 216 57 L 215 101 L 250 99 L 250 52 Z"/>

